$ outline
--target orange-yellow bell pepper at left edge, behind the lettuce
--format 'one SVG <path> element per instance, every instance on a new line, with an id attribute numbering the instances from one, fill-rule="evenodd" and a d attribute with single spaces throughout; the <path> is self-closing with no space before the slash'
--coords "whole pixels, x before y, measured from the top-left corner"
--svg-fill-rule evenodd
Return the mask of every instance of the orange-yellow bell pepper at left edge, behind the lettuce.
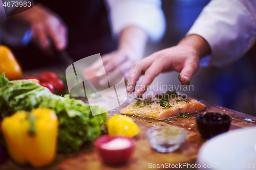
<path id="1" fill-rule="evenodd" d="M 5 76 L 9 80 L 22 77 L 22 68 L 11 50 L 4 45 L 0 45 L 0 74 L 2 72 L 5 72 Z"/>

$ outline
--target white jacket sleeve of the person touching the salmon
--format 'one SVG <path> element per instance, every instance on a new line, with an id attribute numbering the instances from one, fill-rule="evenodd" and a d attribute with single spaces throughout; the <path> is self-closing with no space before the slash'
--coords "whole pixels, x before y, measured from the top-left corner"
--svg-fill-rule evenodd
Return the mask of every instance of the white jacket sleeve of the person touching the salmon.
<path id="1" fill-rule="evenodd" d="M 256 0 L 212 0 L 187 35 L 202 36 L 210 45 L 208 65 L 240 59 L 256 39 Z"/>

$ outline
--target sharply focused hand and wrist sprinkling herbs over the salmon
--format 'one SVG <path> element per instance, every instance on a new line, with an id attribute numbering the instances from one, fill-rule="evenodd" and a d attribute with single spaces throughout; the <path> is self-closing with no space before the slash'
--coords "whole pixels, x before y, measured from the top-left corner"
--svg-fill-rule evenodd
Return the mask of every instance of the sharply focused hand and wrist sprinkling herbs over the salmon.
<path id="1" fill-rule="evenodd" d="M 135 83 L 144 74 L 137 95 L 141 95 L 161 72 L 180 72 L 179 81 L 188 85 L 199 68 L 199 58 L 210 54 L 208 43 L 199 35 L 189 35 L 178 45 L 156 52 L 133 64 L 127 78 L 127 92 L 135 90 Z"/>

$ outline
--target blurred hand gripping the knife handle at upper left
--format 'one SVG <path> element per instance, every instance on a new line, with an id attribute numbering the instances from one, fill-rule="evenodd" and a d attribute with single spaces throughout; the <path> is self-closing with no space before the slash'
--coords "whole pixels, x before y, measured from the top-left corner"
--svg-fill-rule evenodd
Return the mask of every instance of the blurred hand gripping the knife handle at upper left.
<path id="1" fill-rule="evenodd" d="M 31 23 L 32 40 L 44 51 L 51 51 L 51 43 L 57 50 L 67 45 L 67 28 L 61 19 L 44 6 L 35 6 L 17 14 Z M 52 42 L 53 41 L 53 42 Z"/>

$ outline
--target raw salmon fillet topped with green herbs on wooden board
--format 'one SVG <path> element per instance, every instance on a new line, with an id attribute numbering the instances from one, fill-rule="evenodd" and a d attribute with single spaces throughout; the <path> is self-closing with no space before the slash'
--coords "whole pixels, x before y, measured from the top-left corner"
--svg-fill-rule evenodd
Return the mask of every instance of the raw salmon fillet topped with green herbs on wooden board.
<path id="1" fill-rule="evenodd" d="M 120 113 L 162 120 L 177 116 L 179 113 L 193 113 L 205 110 L 205 108 L 205 104 L 193 98 L 182 99 L 177 96 L 174 99 L 163 101 L 154 97 L 151 100 L 133 102 L 121 109 Z"/>

